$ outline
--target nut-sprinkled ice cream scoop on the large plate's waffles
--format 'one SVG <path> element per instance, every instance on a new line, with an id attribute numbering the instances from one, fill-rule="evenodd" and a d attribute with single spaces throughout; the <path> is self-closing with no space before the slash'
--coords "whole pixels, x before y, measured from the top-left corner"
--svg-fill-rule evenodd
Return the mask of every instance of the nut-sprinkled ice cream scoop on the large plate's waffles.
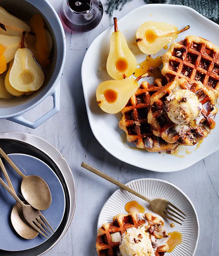
<path id="1" fill-rule="evenodd" d="M 198 97 L 190 90 L 177 90 L 166 97 L 166 112 L 175 124 L 188 124 L 202 109 Z"/>

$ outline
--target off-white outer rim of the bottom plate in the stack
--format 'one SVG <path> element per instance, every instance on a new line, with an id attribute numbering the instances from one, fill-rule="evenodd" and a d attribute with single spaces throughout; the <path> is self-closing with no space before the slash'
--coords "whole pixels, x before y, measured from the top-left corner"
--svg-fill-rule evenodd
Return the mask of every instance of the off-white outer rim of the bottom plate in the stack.
<path id="1" fill-rule="evenodd" d="M 29 145 L 37 148 L 39 151 L 43 152 L 50 159 L 52 159 L 52 161 L 60 169 L 61 174 L 62 174 L 63 178 L 65 179 L 66 187 L 67 187 L 67 190 L 69 193 L 69 206 L 70 206 L 70 210 L 69 210 L 69 213 L 67 216 L 66 225 L 65 225 L 61 235 L 59 236 L 59 238 L 49 248 L 47 248 L 42 253 L 36 254 L 37 256 L 43 255 L 46 252 L 50 251 L 62 239 L 62 237 L 68 231 L 68 228 L 70 227 L 71 221 L 74 217 L 75 207 L 76 207 L 76 186 L 75 186 L 73 173 L 71 171 L 71 168 L 70 168 L 67 160 L 64 158 L 62 153 L 56 147 L 54 147 L 50 142 L 48 142 L 47 140 L 45 140 L 43 138 L 40 138 L 39 136 L 29 134 L 29 133 L 22 133 L 22 132 L 3 132 L 3 133 L 0 133 L 0 139 L 11 139 L 11 140 L 22 141 L 26 144 L 29 144 Z M 48 146 L 50 147 L 49 149 L 48 149 Z M 50 152 L 46 153 L 45 150 L 50 151 Z M 57 158 L 59 158 L 59 161 L 57 161 Z M 61 158 L 61 160 L 60 160 L 60 158 Z M 63 162 L 63 163 L 61 164 L 61 162 Z M 65 168 L 68 169 L 68 172 L 67 172 L 68 176 L 71 177 L 71 190 L 69 189 L 69 182 L 67 182 L 67 180 L 66 180 L 66 174 L 65 175 L 63 174 L 63 171 L 61 168 L 61 167 L 63 167 L 63 165 L 65 165 Z M 37 247 L 35 247 L 35 248 L 37 248 Z"/>

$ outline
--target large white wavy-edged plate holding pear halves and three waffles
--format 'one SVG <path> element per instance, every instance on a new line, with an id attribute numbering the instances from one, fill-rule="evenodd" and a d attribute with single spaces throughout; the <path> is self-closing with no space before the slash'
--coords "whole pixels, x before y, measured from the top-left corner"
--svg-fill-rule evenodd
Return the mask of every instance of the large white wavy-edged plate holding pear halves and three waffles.
<path id="1" fill-rule="evenodd" d="M 152 14 L 152 16 L 150 16 Z M 128 13 L 118 21 L 119 30 L 126 36 L 127 42 L 135 42 L 137 28 L 146 21 L 158 21 L 176 25 L 179 29 L 190 25 L 190 29 L 179 34 L 176 42 L 181 41 L 188 35 L 196 35 L 218 44 L 219 25 L 206 19 L 195 10 L 181 5 L 149 4 L 139 7 Z M 110 44 L 110 36 L 113 26 L 99 35 L 91 44 L 85 54 L 82 64 L 82 84 L 88 118 L 92 132 L 99 143 L 113 156 L 123 162 L 134 166 L 159 171 L 170 172 L 185 169 L 203 159 L 207 155 L 219 149 L 219 126 L 212 130 L 212 134 L 204 139 L 201 148 L 197 151 L 195 146 L 187 147 L 192 154 L 186 154 L 184 158 L 178 158 L 166 153 L 149 153 L 146 150 L 133 150 L 133 144 L 124 142 L 124 131 L 119 128 L 121 114 L 106 114 L 98 107 L 96 102 L 96 88 L 100 82 L 112 80 L 104 71 L 99 71 L 101 65 L 105 65 Z M 170 45 L 170 44 L 169 44 Z M 168 45 L 168 46 L 169 46 Z M 141 63 L 146 55 L 141 53 L 137 46 L 129 44 Z M 160 50 L 156 56 L 164 54 L 166 50 Z M 136 54 L 137 53 L 137 54 Z M 152 56 L 155 58 L 156 56 Z M 152 80 L 151 80 L 152 81 Z M 150 82 L 151 82 L 150 81 Z M 219 115 L 218 115 L 219 116 Z M 219 117 L 216 116 L 216 123 Z M 122 138 L 121 138 L 122 137 Z M 130 147 L 131 146 L 131 147 Z M 185 153 L 185 150 L 183 154 Z"/>

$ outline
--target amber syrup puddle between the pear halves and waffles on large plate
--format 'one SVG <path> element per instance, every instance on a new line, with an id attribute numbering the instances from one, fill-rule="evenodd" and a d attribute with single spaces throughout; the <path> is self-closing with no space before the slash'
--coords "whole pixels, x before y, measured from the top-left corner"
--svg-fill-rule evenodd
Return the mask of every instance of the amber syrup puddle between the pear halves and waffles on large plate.
<path id="1" fill-rule="evenodd" d="M 150 76 L 154 77 L 154 79 L 164 78 L 164 76 L 161 74 L 161 71 L 159 70 L 159 67 L 162 64 L 163 62 L 160 56 L 154 59 L 151 58 L 151 55 L 148 55 L 142 63 L 137 64 L 140 67 L 136 68 L 134 76 L 138 77 L 148 72 Z M 150 71 L 151 68 L 152 71 Z"/>

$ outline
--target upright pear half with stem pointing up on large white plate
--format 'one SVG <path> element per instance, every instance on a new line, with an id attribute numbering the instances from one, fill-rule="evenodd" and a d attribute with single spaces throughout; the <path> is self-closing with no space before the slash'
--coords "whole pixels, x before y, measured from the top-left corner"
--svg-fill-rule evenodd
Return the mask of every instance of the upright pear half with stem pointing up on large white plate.
<path id="1" fill-rule="evenodd" d="M 132 75 L 137 66 L 137 60 L 128 47 L 126 38 L 117 27 L 114 19 L 114 32 L 110 38 L 110 53 L 107 58 L 106 70 L 115 80 L 120 80 Z"/>

